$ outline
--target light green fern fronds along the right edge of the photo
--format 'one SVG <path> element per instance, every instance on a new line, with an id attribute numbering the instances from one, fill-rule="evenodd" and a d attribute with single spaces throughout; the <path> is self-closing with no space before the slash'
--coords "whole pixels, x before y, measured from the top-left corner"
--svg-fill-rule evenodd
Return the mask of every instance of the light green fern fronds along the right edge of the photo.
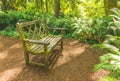
<path id="1" fill-rule="evenodd" d="M 102 49 L 107 49 L 108 53 L 100 57 L 101 63 L 96 65 L 95 69 L 103 68 L 109 70 L 111 72 L 111 78 L 120 79 L 120 10 L 114 8 L 112 12 L 113 15 L 110 16 L 113 18 L 113 21 L 109 23 L 112 34 L 105 36 L 106 40 L 103 44 L 94 45 Z M 111 81 L 111 79 L 108 78 L 101 79 L 101 81 L 104 80 Z"/>

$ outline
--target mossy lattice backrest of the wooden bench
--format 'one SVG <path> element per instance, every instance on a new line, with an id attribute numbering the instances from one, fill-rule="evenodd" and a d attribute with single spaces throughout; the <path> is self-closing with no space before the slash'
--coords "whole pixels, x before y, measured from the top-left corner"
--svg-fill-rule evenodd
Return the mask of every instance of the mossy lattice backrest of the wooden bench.
<path id="1" fill-rule="evenodd" d="M 20 39 L 42 39 L 49 34 L 45 19 L 17 23 Z"/>

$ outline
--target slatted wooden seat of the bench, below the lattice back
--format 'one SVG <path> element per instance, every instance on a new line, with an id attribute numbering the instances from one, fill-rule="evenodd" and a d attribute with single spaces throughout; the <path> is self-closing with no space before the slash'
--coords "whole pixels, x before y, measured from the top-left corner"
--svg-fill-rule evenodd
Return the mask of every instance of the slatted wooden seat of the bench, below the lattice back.
<path id="1" fill-rule="evenodd" d="M 62 40 L 62 36 L 55 36 L 55 35 L 49 35 L 43 39 L 41 39 L 41 42 L 49 43 L 47 46 L 47 52 L 51 52 L 51 50 L 54 48 L 54 46 Z M 44 45 L 41 44 L 33 44 L 31 46 L 28 46 L 28 52 L 34 53 L 34 54 L 42 54 L 44 53 Z"/>

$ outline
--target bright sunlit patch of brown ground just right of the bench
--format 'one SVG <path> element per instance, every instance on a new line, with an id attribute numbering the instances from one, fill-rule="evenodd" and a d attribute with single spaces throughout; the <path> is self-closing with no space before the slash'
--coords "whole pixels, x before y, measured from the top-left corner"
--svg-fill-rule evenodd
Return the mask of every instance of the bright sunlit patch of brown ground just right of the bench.
<path id="1" fill-rule="evenodd" d="M 77 45 L 77 46 L 75 46 L 75 45 Z M 62 53 L 63 56 L 58 59 L 56 66 L 54 68 L 59 67 L 65 63 L 71 61 L 72 57 L 79 56 L 80 54 L 82 54 L 85 51 L 85 49 L 89 45 L 88 44 L 82 45 L 82 44 L 79 44 L 78 41 L 73 41 L 73 42 L 69 43 L 69 46 L 70 47 L 64 46 L 64 48 L 66 48 L 67 50 L 63 50 L 63 53 Z M 71 47 L 73 47 L 73 48 L 71 49 Z"/>

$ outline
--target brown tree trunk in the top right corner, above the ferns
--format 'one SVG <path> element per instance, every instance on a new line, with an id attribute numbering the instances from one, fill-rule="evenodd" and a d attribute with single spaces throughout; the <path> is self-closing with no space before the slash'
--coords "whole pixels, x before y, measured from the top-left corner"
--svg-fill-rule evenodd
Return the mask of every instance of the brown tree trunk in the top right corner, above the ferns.
<path id="1" fill-rule="evenodd" d="M 117 7 L 117 0 L 104 0 L 105 14 L 112 14 L 110 9 Z"/>

